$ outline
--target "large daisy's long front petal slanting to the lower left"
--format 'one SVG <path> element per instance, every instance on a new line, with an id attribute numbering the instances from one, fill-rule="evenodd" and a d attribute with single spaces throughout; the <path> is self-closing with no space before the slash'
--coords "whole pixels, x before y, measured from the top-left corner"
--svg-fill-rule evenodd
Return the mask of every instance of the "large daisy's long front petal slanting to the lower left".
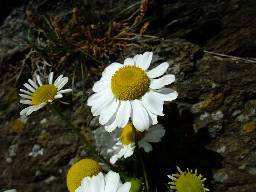
<path id="1" fill-rule="evenodd" d="M 100 114 L 99 123 L 102 124 L 102 125 L 106 124 L 108 122 L 108 120 L 116 112 L 116 109 L 118 108 L 118 105 L 119 105 L 119 100 L 114 99 L 112 101 L 112 103 L 108 106 L 108 108 Z"/>

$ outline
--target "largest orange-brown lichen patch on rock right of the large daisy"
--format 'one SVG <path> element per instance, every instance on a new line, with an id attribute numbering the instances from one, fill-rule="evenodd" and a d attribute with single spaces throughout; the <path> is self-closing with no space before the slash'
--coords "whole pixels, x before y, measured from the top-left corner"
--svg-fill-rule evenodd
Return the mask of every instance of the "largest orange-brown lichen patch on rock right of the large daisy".
<path id="1" fill-rule="evenodd" d="M 201 102 L 201 104 L 197 108 L 213 111 L 220 106 L 223 98 L 224 97 L 222 93 L 218 93 L 217 95 L 213 95 L 213 93 L 211 93 L 205 100 Z"/>

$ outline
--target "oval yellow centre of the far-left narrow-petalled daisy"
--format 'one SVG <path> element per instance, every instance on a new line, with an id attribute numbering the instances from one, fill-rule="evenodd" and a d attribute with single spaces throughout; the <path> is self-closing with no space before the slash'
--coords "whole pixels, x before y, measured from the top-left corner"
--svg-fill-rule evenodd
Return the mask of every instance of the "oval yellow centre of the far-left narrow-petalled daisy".
<path id="1" fill-rule="evenodd" d="M 57 93 L 57 88 L 53 85 L 42 85 L 36 89 L 32 96 L 32 103 L 40 105 L 41 103 L 48 103 L 48 100 L 54 100 Z"/>

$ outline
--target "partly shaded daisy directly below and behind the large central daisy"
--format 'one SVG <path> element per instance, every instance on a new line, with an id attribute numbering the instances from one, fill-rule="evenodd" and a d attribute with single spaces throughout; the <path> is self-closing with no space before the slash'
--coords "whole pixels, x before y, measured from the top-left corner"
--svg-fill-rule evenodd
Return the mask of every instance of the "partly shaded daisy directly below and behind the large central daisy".
<path id="1" fill-rule="evenodd" d="M 152 146 L 148 142 L 159 142 L 165 134 L 165 129 L 161 124 L 149 127 L 148 130 L 140 132 L 136 129 L 136 135 L 139 148 L 144 148 L 145 152 L 152 151 Z M 120 137 L 113 140 L 107 146 L 107 153 L 113 153 L 110 158 L 110 163 L 114 164 L 116 161 L 124 156 L 124 158 L 132 156 L 135 149 L 135 142 L 133 141 L 132 123 L 127 124 L 120 133 Z"/>

